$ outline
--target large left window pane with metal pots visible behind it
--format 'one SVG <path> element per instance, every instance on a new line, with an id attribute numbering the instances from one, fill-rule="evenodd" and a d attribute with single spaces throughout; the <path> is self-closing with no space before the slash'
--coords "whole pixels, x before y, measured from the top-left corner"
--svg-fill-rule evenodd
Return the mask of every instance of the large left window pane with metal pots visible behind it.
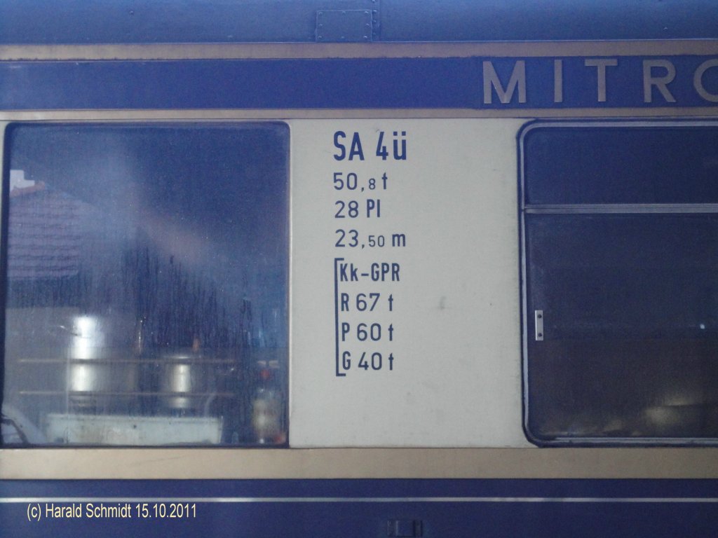
<path id="1" fill-rule="evenodd" d="M 286 443 L 289 129 L 16 125 L 5 444 Z"/>

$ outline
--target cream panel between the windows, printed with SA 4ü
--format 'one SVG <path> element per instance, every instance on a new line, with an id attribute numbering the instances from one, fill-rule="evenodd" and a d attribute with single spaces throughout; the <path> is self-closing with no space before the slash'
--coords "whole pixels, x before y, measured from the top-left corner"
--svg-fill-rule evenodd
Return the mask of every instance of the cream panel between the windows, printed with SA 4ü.
<path id="1" fill-rule="evenodd" d="M 290 123 L 291 445 L 527 445 L 522 122 Z"/>

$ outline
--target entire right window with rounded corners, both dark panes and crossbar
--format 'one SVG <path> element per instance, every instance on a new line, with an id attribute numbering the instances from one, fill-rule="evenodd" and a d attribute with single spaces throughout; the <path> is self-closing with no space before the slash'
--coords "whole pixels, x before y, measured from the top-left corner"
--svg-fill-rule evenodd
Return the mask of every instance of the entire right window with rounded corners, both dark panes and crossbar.
<path id="1" fill-rule="evenodd" d="M 525 422 L 553 443 L 718 440 L 718 127 L 523 136 Z"/>

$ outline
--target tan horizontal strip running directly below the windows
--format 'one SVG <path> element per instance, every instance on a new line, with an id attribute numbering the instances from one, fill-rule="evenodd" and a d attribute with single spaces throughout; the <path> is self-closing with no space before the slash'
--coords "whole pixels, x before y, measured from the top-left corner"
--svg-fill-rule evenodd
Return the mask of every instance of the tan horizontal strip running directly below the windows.
<path id="1" fill-rule="evenodd" d="M 718 478 L 718 449 L 0 450 L 0 480 L 34 478 Z"/>

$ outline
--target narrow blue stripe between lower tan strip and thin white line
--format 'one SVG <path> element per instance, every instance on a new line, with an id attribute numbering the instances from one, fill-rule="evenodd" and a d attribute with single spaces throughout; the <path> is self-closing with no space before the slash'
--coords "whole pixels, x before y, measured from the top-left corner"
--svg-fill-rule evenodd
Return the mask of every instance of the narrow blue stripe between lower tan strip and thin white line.
<path id="1" fill-rule="evenodd" d="M 9 497 L 718 498 L 718 479 L 5 480 Z"/>

